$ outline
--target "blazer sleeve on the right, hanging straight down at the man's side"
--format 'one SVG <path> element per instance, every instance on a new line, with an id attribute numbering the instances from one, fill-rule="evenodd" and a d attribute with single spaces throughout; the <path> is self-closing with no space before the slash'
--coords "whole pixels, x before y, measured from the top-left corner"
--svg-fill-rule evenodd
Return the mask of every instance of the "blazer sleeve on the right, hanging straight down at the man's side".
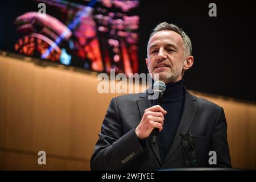
<path id="1" fill-rule="evenodd" d="M 218 112 L 216 122 L 214 124 L 212 139 L 210 141 L 210 151 L 216 151 L 217 164 L 216 167 L 232 167 L 229 155 L 229 146 L 227 140 L 227 124 L 224 110 Z M 212 166 L 211 166 L 212 167 Z"/>

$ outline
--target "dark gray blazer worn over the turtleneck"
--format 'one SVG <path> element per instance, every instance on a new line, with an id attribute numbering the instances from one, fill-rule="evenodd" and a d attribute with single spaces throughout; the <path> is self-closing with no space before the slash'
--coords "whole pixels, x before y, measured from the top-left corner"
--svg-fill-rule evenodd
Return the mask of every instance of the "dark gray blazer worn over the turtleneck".
<path id="1" fill-rule="evenodd" d="M 231 167 L 226 134 L 226 118 L 222 107 L 185 91 L 185 101 L 180 125 L 163 162 L 158 144 L 150 137 L 142 147 L 135 127 L 139 125 L 144 110 L 151 107 L 147 93 L 128 94 L 112 99 L 101 133 L 90 161 L 92 170 L 155 170 L 187 167 L 180 133 L 192 134 L 197 167 L 209 165 L 209 151 L 216 151 L 217 165 Z"/>

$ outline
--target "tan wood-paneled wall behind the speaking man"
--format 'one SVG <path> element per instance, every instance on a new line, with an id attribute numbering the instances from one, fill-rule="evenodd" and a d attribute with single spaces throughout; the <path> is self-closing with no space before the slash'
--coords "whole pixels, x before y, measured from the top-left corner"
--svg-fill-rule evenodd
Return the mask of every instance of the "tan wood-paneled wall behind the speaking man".
<path id="1" fill-rule="evenodd" d="M 89 170 L 111 98 L 97 75 L 0 56 L 0 169 Z M 224 107 L 235 168 L 256 168 L 256 106 L 205 97 Z M 46 151 L 46 165 L 38 151 Z"/>

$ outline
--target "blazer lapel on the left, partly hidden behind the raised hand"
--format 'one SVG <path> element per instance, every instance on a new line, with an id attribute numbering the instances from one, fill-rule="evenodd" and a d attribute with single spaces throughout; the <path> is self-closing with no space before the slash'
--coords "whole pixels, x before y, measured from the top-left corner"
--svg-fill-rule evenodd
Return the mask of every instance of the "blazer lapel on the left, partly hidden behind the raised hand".
<path id="1" fill-rule="evenodd" d="M 152 106 L 152 102 L 151 100 L 148 100 L 148 94 L 146 93 L 141 93 L 141 98 L 139 100 L 137 100 L 137 104 L 139 107 L 139 113 L 141 115 L 141 119 L 142 116 L 144 114 L 144 110 L 146 110 L 148 107 Z M 150 141 L 150 137 L 146 138 L 147 142 L 150 144 L 150 147 L 152 148 L 152 150 L 154 151 L 154 154 L 156 156 L 156 159 L 158 159 L 159 164 L 162 164 L 161 159 L 160 159 L 160 152 L 159 152 L 159 148 L 158 148 L 158 143 L 151 143 Z"/>

